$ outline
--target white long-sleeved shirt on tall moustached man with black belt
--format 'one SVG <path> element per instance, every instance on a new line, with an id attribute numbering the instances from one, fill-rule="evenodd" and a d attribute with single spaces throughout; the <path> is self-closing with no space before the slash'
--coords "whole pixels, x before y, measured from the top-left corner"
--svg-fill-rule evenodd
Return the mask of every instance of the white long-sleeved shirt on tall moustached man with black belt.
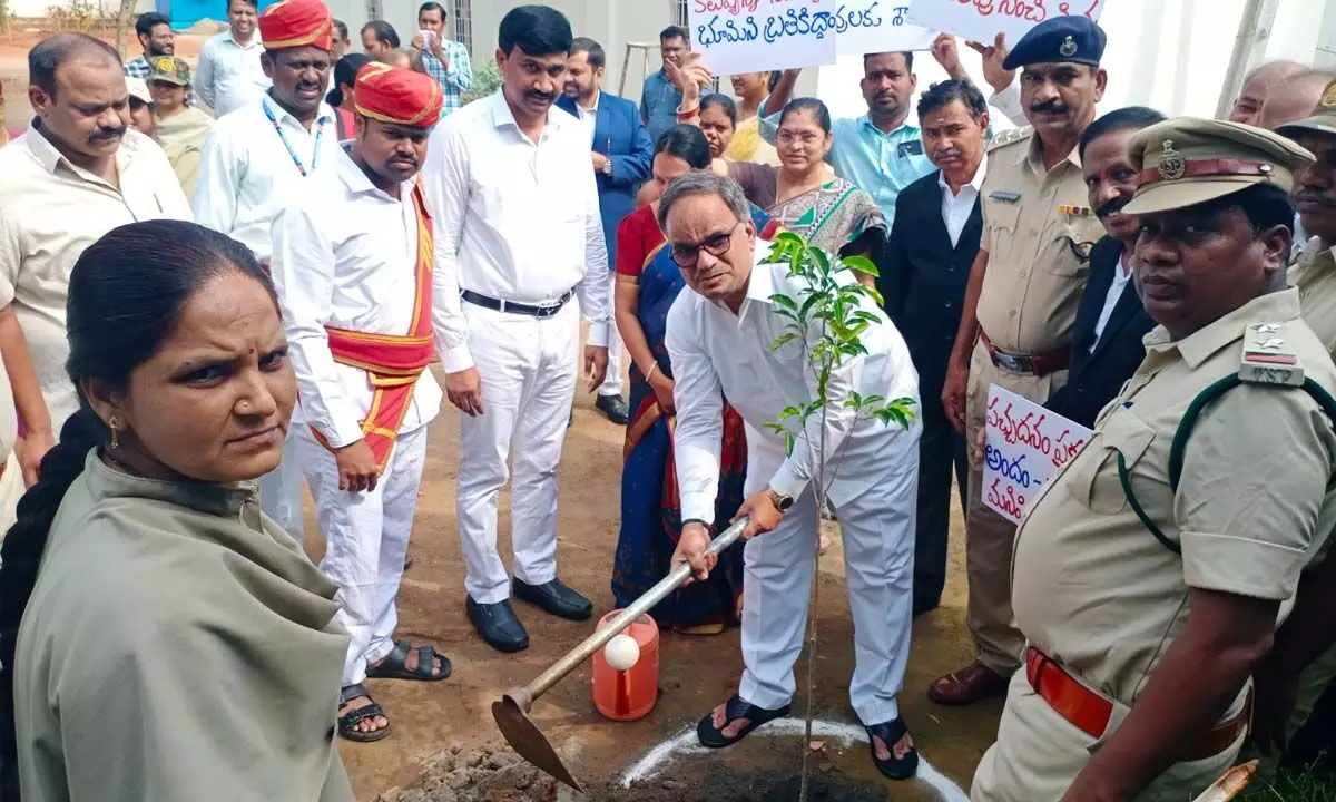
<path id="1" fill-rule="evenodd" d="M 448 373 L 473 366 L 462 290 L 537 306 L 574 290 L 589 345 L 608 345 L 608 251 L 584 123 L 553 106 L 533 142 L 497 91 L 437 126 L 422 179 L 436 221 L 433 319 Z"/>

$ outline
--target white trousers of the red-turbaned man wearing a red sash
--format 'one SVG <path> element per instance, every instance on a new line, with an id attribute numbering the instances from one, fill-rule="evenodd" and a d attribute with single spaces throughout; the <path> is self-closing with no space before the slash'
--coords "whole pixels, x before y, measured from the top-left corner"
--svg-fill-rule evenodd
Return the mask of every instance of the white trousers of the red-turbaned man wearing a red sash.
<path id="1" fill-rule="evenodd" d="M 374 491 L 362 493 L 338 489 L 334 454 L 317 442 L 309 426 L 302 425 L 295 440 L 315 500 L 315 523 L 325 536 L 321 571 L 338 583 L 338 619 L 350 636 L 343 663 L 346 687 L 366 679 L 367 663 L 394 648 L 394 599 L 403 579 L 426 460 L 426 426 L 399 434 L 381 481 Z"/>

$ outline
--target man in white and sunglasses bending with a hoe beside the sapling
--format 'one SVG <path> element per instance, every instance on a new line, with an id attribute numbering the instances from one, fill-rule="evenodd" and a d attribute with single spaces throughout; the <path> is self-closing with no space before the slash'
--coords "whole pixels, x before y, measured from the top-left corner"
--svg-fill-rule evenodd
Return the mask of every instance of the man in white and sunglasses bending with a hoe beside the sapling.
<path id="1" fill-rule="evenodd" d="M 725 747 L 756 727 L 788 715 L 794 662 L 803 646 L 819 515 L 814 492 L 818 450 L 824 441 L 824 477 L 839 513 L 846 581 L 854 615 L 854 678 L 850 698 L 867 728 L 872 762 L 892 779 L 918 769 L 918 753 L 896 704 L 910 648 L 914 577 L 914 520 L 918 497 L 921 424 L 882 424 L 846 405 L 854 393 L 918 406 L 918 374 L 908 348 L 876 302 L 858 309 L 876 318 L 860 340 L 864 356 L 844 357 L 827 388 L 822 414 L 798 434 L 792 454 L 784 437 L 766 429 L 790 405 L 816 398 L 807 350 L 790 341 L 772 349 L 790 318 L 775 294 L 803 305 L 806 286 L 788 263 L 764 259 L 771 246 L 756 241 L 741 187 L 729 178 L 692 172 L 675 180 L 659 205 L 673 261 L 689 291 L 668 313 L 668 354 L 677 405 L 676 457 L 683 531 L 673 561 L 691 563 L 697 579 L 713 560 L 704 556 L 719 484 L 720 409 L 727 397 L 747 422 L 741 651 L 739 692 L 696 727 L 700 743 Z M 850 273 L 844 283 L 855 283 Z M 842 678 L 839 679 L 842 680 Z M 835 682 L 839 682 L 835 680 Z"/>

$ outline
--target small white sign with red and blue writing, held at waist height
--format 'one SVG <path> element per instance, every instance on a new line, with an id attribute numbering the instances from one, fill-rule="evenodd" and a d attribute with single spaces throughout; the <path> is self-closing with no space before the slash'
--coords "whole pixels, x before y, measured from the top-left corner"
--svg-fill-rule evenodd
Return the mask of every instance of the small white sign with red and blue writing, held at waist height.
<path id="1" fill-rule="evenodd" d="M 983 503 L 1013 523 L 1021 523 L 1029 500 L 1089 438 L 1090 429 L 1081 424 L 989 385 Z"/>

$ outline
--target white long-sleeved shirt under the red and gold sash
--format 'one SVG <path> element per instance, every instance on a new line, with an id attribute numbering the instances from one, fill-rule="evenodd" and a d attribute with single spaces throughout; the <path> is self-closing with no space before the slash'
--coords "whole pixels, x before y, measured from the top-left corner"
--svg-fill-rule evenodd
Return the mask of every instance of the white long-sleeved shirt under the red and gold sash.
<path id="1" fill-rule="evenodd" d="M 362 438 L 371 388 L 365 370 L 334 361 L 325 326 L 397 336 L 411 329 L 418 255 L 413 182 L 394 199 L 339 152 L 309 188 L 274 219 L 274 286 L 301 394 L 293 422 L 311 425 L 343 448 Z M 441 386 L 426 370 L 399 433 L 425 426 L 440 410 Z"/>

